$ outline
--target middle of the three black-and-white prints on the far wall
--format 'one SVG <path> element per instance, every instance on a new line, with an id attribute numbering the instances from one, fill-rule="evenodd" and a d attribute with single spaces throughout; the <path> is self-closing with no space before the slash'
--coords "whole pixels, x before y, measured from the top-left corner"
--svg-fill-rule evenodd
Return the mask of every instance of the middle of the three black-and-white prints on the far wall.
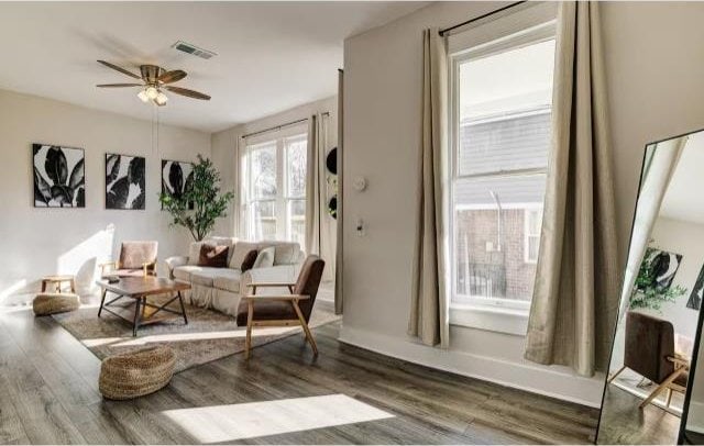
<path id="1" fill-rule="evenodd" d="M 106 154 L 106 209 L 144 209 L 146 159 Z"/>

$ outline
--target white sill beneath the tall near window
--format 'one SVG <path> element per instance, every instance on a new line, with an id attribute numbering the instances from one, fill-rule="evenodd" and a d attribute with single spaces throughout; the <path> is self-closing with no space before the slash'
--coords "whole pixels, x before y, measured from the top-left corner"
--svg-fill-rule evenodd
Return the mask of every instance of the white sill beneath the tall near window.
<path id="1" fill-rule="evenodd" d="M 528 310 L 453 303 L 450 305 L 450 325 L 526 336 Z"/>

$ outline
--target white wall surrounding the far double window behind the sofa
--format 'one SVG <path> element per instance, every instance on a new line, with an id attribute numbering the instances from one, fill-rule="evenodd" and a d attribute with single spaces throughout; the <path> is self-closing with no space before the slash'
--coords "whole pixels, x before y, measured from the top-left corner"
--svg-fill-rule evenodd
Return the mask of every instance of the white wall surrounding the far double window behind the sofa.
<path id="1" fill-rule="evenodd" d="M 331 76 L 337 76 L 337 71 Z M 238 167 L 238 141 L 242 135 L 271 129 L 280 124 L 310 118 L 315 113 L 329 112 L 328 123 L 328 143 L 324 152 L 338 145 L 338 99 L 337 97 L 326 98 L 320 101 L 310 102 L 296 107 L 257 121 L 246 124 L 235 125 L 231 129 L 212 134 L 212 160 L 220 170 L 223 178 L 223 189 L 238 191 L 239 167 Z M 238 230 L 238 215 L 235 207 L 239 201 L 239 193 L 235 201 L 228 210 L 228 219 L 221 220 L 216 226 L 216 233 L 222 235 L 241 235 Z M 321 255 L 326 259 L 324 279 L 330 281 L 334 278 L 334 237 L 336 221 L 324 214 L 321 219 L 321 232 L 323 233 L 323 246 L 321 246 Z"/>

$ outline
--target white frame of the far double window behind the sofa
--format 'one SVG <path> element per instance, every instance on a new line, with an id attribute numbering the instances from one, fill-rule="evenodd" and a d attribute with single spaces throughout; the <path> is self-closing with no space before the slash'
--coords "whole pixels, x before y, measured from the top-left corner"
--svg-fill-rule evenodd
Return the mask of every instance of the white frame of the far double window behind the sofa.
<path id="1" fill-rule="evenodd" d="M 240 235 L 246 239 L 255 239 L 257 235 L 254 231 L 254 214 L 253 209 L 255 203 L 260 202 L 274 202 L 274 212 L 276 215 L 276 233 L 275 238 L 277 241 L 292 241 L 293 231 L 289 219 L 289 202 L 304 201 L 306 202 L 306 192 L 304 190 L 302 196 L 292 196 L 288 190 L 288 147 L 287 144 L 292 140 L 306 141 L 306 156 L 308 156 L 308 127 L 302 125 L 292 125 L 286 129 L 282 129 L 276 132 L 270 132 L 266 134 L 257 135 L 246 138 L 244 141 L 244 150 L 240 156 L 241 168 L 241 181 L 240 190 L 242 191 L 242 201 L 240 205 L 240 220 L 244 222 L 240 226 Z M 272 144 L 275 147 L 276 157 L 276 196 L 274 198 L 261 198 L 255 199 L 253 193 L 253 182 L 251 180 L 252 172 L 252 156 L 254 150 L 263 149 L 265 144 Z M 271 147 L 271 145 L 270 145 Z M 306 160 L 306 170 L 308 163 Z M 305 218 L 304 218 L 305 222 Z M 305 234 L 304 234 L 305 237 Z M 305 241 L 304 241 L 305 243 Z"/>

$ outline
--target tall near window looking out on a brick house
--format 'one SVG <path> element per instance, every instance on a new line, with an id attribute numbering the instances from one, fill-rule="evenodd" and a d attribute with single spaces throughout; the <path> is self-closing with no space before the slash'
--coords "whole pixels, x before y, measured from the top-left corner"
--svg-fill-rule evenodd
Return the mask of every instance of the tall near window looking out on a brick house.
<path id="1" fill-rule="evenodd" d="M 554 26 L 451 54 L 452 302 L 527 311 L 551 141 Z M 485 31 L 485 30 L 484 30 Z"/>

